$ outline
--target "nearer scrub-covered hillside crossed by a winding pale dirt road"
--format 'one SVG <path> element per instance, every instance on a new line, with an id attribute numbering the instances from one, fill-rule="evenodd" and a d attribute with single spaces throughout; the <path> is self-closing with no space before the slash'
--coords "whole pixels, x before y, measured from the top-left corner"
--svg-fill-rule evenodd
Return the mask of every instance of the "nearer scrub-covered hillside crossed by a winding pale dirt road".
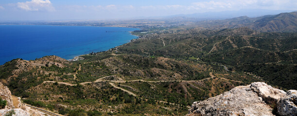
<path id="1" fill-rule="evenodd" d="M 129 116 L 185 115 L 194 101 L 259 80 L 192 60 L 115 51 L 81 57 L 74 62 L 56 56 L 15 59 L 1 66 L 10 69 L 1 82 L 23 102 L 62 115 Z"/>

